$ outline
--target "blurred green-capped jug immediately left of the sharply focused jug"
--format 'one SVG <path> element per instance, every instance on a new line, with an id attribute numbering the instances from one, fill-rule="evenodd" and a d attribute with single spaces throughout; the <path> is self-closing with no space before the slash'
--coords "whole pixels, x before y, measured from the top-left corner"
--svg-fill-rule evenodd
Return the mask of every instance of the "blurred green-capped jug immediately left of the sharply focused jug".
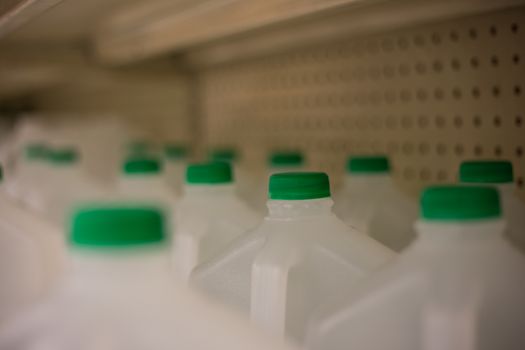
<path id="1" fill-rule="evenodd" d="M 195 266 L 255 227 L 260 217 L 236 194 L 231 165 L 191 164 L 175 210 L 175 267 L 187 280 Z"/>

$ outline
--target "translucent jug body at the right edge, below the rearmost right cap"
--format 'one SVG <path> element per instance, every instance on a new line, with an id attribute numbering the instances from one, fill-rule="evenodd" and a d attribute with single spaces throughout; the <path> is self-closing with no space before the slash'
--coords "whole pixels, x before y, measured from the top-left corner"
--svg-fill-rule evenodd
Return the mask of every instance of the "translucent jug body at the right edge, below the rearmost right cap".
<path id="1" fill-rule="evenodd" d="M 500 185 L 498 189 L 503 215 L 508 223 L 507 235 L 512 243 L 525 252 L 525 203 L 516 196 L 514 185 Z"/>

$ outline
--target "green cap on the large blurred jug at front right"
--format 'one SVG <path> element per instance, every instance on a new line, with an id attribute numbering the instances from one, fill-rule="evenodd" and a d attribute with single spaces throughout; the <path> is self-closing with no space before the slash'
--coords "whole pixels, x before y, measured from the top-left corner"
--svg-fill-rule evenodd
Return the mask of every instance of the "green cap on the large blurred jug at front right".
<path id="1" fill-rule="evenodd" d="M 432 221 L 468 221 L 498 218 L 498 191 L 482 186 L 432 186 L 421 195 L 421 217 Z"/>

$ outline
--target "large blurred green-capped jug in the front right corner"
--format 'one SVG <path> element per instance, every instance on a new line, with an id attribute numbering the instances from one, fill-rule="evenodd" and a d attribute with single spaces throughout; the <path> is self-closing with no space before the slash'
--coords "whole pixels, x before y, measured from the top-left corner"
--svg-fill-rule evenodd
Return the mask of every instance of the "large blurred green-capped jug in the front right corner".
<path id="1" fill-rule="evenodd" d="M 416 229 L 388 267 L 319 312 L 309 349 L 523 349 L 525 256 L 503 237 L 497 190 L 430 187 Z"/>

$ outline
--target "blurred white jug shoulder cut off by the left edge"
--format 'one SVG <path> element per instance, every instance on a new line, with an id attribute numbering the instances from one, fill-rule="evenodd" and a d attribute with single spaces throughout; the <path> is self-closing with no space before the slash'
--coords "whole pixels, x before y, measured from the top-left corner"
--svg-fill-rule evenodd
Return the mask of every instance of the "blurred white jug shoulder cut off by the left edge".
<path id="1" fill-rule="evenodd" d="M 0 193 L 0 327 L 42 297 L 63 266 L 61 232 Z"/>

